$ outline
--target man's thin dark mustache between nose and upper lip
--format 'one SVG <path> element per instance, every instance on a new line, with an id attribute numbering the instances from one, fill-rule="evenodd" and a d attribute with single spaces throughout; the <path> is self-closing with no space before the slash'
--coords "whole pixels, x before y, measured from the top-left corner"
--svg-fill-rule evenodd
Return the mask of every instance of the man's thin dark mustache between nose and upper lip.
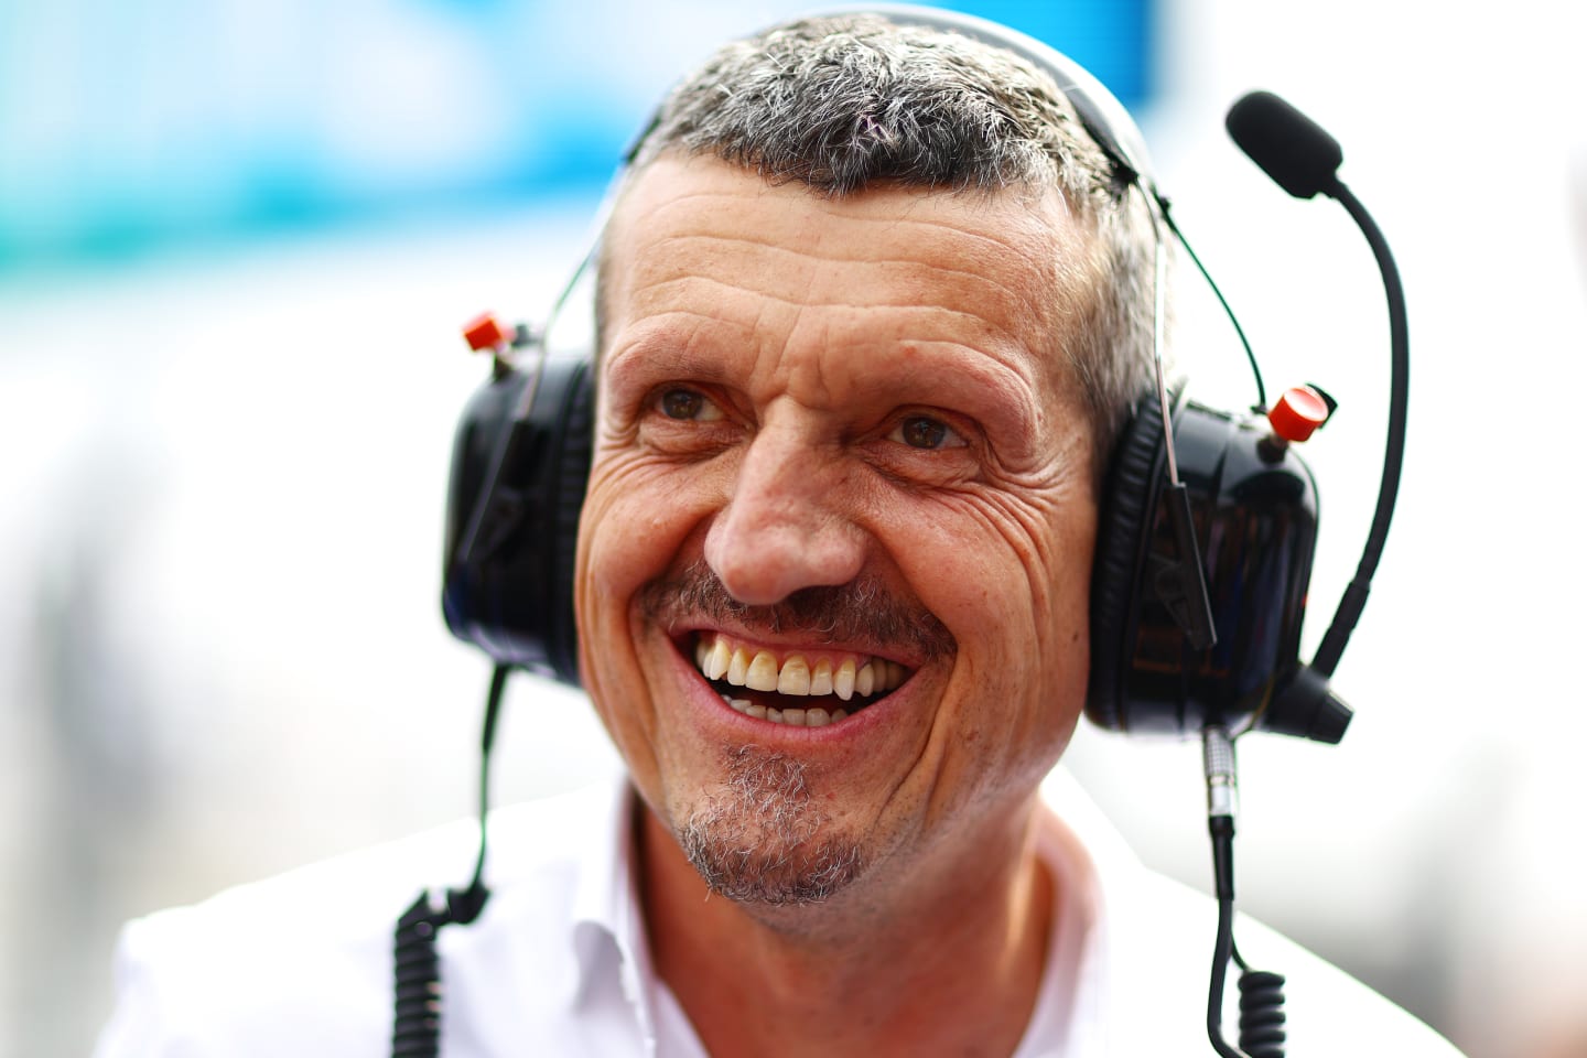
<path id="1" fill-rule="evenodd" d="M 925 661 L 959 649 L 954 633 L 932 611 L 893 596 L 881 577 L 865 573 L 847 584 L 800 588 L 771 606 L 749 606 L 733 598 L 700 558 L 647 584 L 640 606 L 647 619 L 667 628 L 706 617 L 816 642 L 903 644 Z"/>

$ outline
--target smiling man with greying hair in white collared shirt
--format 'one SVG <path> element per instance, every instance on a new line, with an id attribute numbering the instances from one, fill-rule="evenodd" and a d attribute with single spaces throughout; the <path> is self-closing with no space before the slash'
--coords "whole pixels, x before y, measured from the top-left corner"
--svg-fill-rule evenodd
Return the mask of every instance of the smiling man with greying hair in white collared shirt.
<path id="1" fill-rule="evenodd" d="M 624 179 L 576 611 L 632 785 L 497 817 L 443 1053 L 1206 1053 L 1211 909 L 1041 793 L 1151 378 L 1143 197 L 1030 63 L 879 17 L 725 48 Z M 102 1055 L 386 1053 L 455 838 L 133 926 Z M 1298 1053 L 1451 1053 L 1258 947 L 1327 1010 Z"/>

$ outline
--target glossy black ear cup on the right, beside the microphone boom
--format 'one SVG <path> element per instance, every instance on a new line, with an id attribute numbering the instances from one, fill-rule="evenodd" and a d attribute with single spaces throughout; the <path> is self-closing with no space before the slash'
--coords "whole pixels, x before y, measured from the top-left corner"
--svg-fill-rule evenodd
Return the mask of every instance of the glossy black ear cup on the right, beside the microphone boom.
<path id="1" fill-rule="evenodd" d="M 1195 646 L 1184 612 L 1185 544 L 1170 517 L 1162 411 L 1149 395 L 1120 433 L 1100 503 L 1086 712 L 1125 733 L 1187 736 L 1208 723 L 1281 730 L 1284 719 L 1265 711 L 1300 668 L 1316 484 L 1255 422 L 1170 400 L 1195 523 L 1189 560 L 1206 576 L 1217 641 Z"/>

